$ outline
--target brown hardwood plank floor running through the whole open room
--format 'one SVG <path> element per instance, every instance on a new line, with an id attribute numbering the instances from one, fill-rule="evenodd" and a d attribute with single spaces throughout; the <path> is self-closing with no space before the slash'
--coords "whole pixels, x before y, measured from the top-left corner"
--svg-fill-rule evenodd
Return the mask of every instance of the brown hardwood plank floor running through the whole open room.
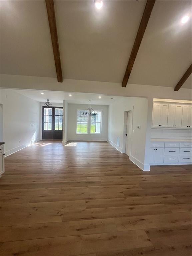
<path id="1" fill-rule="evenodd" d="M 191 166 L 141 171 L 107 142 L 5 158 L 0 256 L 191 256 Z"/>

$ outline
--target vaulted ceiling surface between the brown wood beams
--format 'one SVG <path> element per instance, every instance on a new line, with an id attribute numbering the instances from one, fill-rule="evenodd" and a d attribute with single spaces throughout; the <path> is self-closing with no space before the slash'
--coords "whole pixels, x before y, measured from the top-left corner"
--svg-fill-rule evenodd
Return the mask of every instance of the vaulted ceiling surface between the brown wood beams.
<path id="1" fill-rule="evenodd" d="M 0 73 L 56 77 L 45 1 L 0 4 Z M 63 77 L 122 82 L 146 1 L 54 4 Z M 191 1 L 156 1 L 129 83 L 174 87 L 190 64 Z"/>

